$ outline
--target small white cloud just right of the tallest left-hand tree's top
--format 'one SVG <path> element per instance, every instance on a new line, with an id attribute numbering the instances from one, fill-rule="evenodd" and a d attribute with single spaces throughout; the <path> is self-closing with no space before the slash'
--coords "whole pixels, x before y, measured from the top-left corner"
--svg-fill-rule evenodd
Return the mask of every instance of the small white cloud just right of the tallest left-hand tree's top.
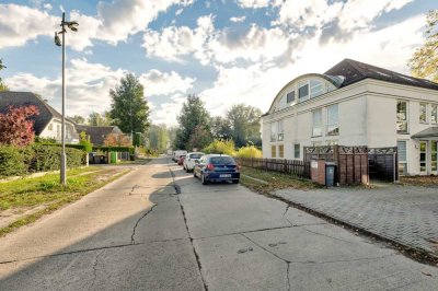
<path id="1" fill-rule="evenodd" d="M 195 82 L 195 79 L 183 78 L 175 71 L 166 73 L 159 70 L 150 70 L 147 73 L 142 73 L 139 80 L 145 86 L 147 96 L 166 95 L 175 92 L 184 93 L 192 89 Z"/>

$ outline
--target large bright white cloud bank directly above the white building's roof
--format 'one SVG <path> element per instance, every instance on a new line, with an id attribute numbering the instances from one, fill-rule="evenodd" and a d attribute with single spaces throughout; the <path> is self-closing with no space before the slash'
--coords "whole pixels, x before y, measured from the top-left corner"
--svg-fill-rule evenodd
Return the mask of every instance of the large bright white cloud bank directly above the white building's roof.
<path id="1" fill-rule="evenodd" d="M 287 82 L 304 73 L 323 73 L 344 58 L 406 73 L 405 63 L 413 46 L 422 43 L 423 25 L 424 16 L 419 15 L 377 32 L 355 34 L 347 43 L 324 47 L 316 34 L 296 51 L 296 61 L 285 67 L 266 62 L 219 67 L 218 79 L 200 96 L 214 115 L 221 115 L 235 103 L 251 104 L 266 112 Z"/>

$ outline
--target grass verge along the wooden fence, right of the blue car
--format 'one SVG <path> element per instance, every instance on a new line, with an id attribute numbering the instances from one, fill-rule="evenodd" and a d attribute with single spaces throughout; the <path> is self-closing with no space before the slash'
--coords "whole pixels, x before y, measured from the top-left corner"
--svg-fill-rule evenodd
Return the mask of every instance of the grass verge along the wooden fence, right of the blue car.
<path id="1" fill-rule="evenodd" d="M 261 194 L 285 188 L 308 190 L 322 187 L 310 179 L 244 166 L 241 167 L 240 181 L 244 186 Z"/>

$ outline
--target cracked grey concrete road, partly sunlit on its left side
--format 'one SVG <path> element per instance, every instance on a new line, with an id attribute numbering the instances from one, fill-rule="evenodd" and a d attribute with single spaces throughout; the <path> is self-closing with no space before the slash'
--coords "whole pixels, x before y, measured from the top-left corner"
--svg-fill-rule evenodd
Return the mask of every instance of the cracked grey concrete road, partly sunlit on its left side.
<path id="1" fill-rule="evenodd" d="M 0 238 L 0 290 L 438 290 L 438 268 L 153 160 Z"/>

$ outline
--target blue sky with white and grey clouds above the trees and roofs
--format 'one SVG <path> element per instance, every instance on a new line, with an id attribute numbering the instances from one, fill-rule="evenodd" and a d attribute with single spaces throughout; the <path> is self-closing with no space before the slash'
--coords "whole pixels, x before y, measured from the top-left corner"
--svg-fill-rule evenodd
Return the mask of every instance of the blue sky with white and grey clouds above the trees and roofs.
<path id="1" fill-rule="evenodd" d="M 0 0 L 0 78 L 61 107 L 62 10 L 67 115 L 111 108 L 126 73 L 145 86 L 154 124 L 176 125 L 187 94 L 212 116 L 244 103 L 267 112 L 278 91 L 345 58 L 408 74 L 438 0 Z"/>

